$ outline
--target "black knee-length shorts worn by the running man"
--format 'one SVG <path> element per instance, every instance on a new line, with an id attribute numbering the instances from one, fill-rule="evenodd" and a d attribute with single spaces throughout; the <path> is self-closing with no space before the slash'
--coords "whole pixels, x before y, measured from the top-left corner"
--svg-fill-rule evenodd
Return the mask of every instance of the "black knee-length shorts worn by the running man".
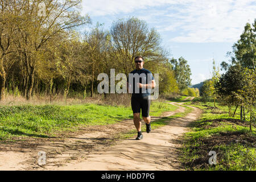
<path id="1" fill-rule="evenodd" d="M 133 113 L 141 113 L 143 117 L 149 116 L 150 100 L 146 97 L 131 97 L 131 109 Z"/>

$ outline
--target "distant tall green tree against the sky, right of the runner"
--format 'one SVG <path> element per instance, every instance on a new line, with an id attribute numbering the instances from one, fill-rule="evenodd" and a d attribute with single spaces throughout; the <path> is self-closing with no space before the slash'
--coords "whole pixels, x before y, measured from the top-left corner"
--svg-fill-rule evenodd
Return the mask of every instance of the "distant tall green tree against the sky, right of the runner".
<path id="1" fill-rule="evenodd" d="M 174 64 L 174 73 L 179 90 L 182 91 L 191 85 L 191 69 L 187 64 L 188 61 L 180 57 L 178 61 L 172 58 L 171 63 Z"/>

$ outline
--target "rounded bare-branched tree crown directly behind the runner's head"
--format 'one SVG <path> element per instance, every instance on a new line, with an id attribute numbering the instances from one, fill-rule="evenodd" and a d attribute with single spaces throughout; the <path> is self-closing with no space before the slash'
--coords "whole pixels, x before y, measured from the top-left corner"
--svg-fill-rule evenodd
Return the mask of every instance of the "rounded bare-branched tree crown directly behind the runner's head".
<path id="1" fill-rule="evenodd" d="M 143 56 L 145 67 L 156 66 L 166 60 L 160 47 L 160 35 L 154 28 L 148 30 L 146 22 L 138 18 L 118 19 L 110 28 L 111 57 L 118 71 L 128 73 L 134 69 L 134 58 Z M 122 67 L 120 67 L 122 65 Z"/>

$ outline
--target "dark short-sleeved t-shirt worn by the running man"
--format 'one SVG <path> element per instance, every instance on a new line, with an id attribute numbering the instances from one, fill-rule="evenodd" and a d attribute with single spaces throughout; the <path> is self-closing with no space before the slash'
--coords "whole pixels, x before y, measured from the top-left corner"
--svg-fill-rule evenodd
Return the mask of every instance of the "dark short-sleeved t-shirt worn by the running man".
<path id="1" fill-rule="evenodd" d="M 134 69 L 134 71 L 130 72 L 127 82 L 131 84 L 131 90 L 133 90 L 132 96 L 134 97 L 150 96 L 151 89 L 137 88 L 137 83 L 139 82 L 141 84 L 150 84 L 152 80 L 154 80 L 154 77 L 152 73 L 147 69 L 144 69 L 144 68 Z"/>

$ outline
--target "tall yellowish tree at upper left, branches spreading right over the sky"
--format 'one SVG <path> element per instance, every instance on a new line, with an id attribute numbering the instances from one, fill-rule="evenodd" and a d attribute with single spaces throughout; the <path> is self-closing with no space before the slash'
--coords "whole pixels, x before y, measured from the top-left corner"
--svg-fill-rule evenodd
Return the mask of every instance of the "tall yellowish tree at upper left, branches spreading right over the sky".
<path id="1" fill-rule="evenodd" d="M 44 3 L 46 14 L 41 15 L 40 3 Z M 35 71 L 38 67 L 38 56 L 44 45 L 67 30 L 89 23 L 89 16 L 81 16 L 79 10 L 81 1 L 42 0 L 24 1 L 15 4 L 16 9 L 22 9 L 18 22 L 19 34 L 16 44 L 19 52 L 23 54 L 23 63 L 26 65 L 28 76 L 27 100 L 30 99 L 35 80 Z"/>

